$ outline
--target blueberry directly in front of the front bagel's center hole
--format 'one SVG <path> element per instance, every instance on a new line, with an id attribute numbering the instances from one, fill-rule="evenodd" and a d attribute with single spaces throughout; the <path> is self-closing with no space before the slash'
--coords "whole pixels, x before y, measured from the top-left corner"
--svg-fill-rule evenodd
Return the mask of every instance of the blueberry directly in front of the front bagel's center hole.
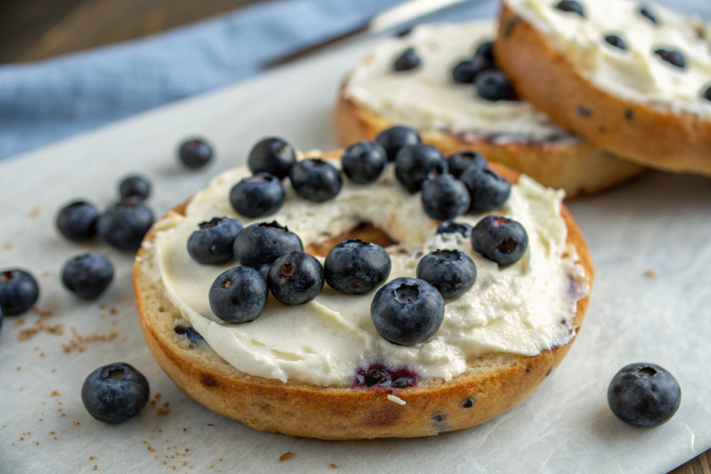
<path id="1" fill-rule="evenodd" d="M 390 255 L 380 245 L 347 239 L 326 255 L 326 283 L 348 295 L 362 295 L 387 280 L 392 269 Z"/>

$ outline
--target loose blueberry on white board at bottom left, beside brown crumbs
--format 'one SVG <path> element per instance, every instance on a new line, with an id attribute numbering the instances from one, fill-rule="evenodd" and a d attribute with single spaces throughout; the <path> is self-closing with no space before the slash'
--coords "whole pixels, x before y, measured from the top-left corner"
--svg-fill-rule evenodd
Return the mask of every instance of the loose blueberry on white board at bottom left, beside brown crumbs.
<path id="1" fill-rule="evenodd" d="M 124 362 L 99 367 L 82 385 L 82 403 L 91 416 L 104 423 L 117 424 L 141 412 L 150 389 L 148 380 Z"/>

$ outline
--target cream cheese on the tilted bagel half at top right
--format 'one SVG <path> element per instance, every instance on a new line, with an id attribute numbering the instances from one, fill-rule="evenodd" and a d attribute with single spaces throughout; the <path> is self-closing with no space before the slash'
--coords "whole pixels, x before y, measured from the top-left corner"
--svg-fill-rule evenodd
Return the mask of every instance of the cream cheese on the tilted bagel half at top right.
<path id="1" fill-rule="evenodd" d="M 557 0 L 506 0 L 516 14 L 544 33 L 557 50 L 600 90 L 661 109 L 711 117 L 702 91 L 711 85 L 711 48 L 687 18 L 645 2 L 658 24 L 631 0 L 579 0 L 585 18 L 555 8 Z M 626 50 L 604 40 L 620 36 Z M 665 62 L 655 50 L 683 53 L 686 68 Z"/>

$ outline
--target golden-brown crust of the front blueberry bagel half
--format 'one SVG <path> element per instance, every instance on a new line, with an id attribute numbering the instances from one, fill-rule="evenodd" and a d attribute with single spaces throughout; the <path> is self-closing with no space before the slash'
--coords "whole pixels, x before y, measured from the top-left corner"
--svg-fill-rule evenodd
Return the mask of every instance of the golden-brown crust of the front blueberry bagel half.
<path id="1" fill-rule="evenodd" d="M 518 173 L 493 163 L 515 182 Z M 171 212 L 183 213 L 187 202 Z M 562 206 L 568 242 L 592 284 L 592 259 L 582 233 Z M 155 227 L 154 227 L 155 229 Z M 152 242 L 154 229 L 146 235 Z M 368 230 L 373 232 L 373 230 Z M 175 335 L 181 315 L 146 274 L 144 245 L 134 264 L 134 288 L 141 329 L 151 353 L 183 392 L 209 409 L 252 428 L 292 436 L 358 439 L 428 436 L 469 428 L 493 419 L 520 403 L 560 364 L 573 340 L 540 355 L 491 354 L 469 361 L 470 369 L 450 382 L 409 389 L 322 388 L 246 375 L 221 360 L 210 348 L 194 348 Z M 578 302 L 574 325 L 582 323 L 588 298 Z M 394 394 L 407 404 L 387 399 Z M 464 407 L 466 399 L 474 406 Z"/>

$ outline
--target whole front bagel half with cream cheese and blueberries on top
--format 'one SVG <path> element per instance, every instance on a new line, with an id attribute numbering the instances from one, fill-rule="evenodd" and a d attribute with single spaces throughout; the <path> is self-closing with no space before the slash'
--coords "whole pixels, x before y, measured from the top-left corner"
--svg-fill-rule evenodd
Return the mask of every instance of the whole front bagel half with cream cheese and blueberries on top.
<path id="1" fill-rule="evenodd" d="M 562 191 L 395 154 L 267 139 L 156 222 L 134 286 L 178 387 L 263 431 L 411 437 L 492 419 L 557 367 L 593 276 Z"/>

